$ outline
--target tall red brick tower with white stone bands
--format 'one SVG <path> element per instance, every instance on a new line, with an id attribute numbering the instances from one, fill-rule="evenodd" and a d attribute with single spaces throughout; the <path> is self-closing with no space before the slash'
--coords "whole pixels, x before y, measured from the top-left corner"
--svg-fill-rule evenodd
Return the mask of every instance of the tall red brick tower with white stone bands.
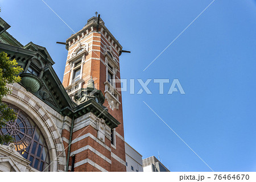
<path id="1" fill-rule="evenodd" d="M 66 48 L 63 86 L 77 104 L 62 132 L 66 171 L 126 171 L 122 96 L 117 89 L 122 46 L 94 16 L 67 39 Z"/>

